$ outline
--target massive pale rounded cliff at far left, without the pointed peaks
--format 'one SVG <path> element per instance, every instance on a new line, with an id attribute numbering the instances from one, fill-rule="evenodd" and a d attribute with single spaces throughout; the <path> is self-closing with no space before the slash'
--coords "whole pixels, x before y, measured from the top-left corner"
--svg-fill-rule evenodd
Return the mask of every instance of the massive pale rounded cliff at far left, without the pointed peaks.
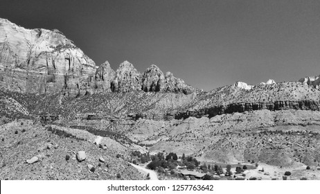
<path id="1" fill-rule="evenodd" d="M 0 19 L 0 85 L 31 94 L 92 93 L 96 64 L 58 30 Z"/>

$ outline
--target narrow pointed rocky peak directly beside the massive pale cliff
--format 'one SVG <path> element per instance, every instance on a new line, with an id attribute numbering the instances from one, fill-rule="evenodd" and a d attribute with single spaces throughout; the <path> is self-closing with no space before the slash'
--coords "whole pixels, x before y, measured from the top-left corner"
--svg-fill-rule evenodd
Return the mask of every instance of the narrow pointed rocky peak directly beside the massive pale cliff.
<path id="1" fill-rule="evenodd" d="M 111 91 L 111 82 L 114 80 L 115 74 L 108 61 L 101 64 L 96 71 L 96 89 Z"/>

